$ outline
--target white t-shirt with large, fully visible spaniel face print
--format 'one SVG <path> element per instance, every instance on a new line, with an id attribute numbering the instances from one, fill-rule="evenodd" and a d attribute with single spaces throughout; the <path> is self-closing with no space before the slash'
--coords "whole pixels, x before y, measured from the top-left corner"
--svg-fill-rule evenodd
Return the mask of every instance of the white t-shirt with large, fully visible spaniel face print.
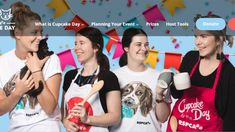
<path id="1" fill-rule="evenodd" d="M 114 71 L 122 91 L 122 119 L 110 131 L 159 132 L 160 122 L 155 114 L 156 87 L 159 72 L 147 68 L 134 72 L 127 66 Z"/>

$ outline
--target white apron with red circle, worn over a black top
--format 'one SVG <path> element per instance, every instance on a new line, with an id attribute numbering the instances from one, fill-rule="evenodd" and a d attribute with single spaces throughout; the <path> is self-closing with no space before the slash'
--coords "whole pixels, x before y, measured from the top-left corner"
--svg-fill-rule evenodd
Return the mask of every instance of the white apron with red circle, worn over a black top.
<path id="1" fill-rule="evenodd" d="M 76 78 L 81 74 L 81 71 L 79 69 L 76 77 L 72 80 L 72 83 L 70 84 L 70 87 L 68 91 L 65 93 L 65 109 L 67 108 L 68 114 L 69 111 L 74 107 L 75 104 L 78 104 L 82 102 L 82 100 L 86 97 L 86 95 L 91 90 L 92 85 L 91 84 L 85 84 L 83 86 L 79 86 L 75 83 Z M 99 73 L 99 68 L 97 69 L 95 75 Z M 98 79 L 95 80 L 95 82 L 98 81 Z M 84 104 L 84 107 L 86 108 L 87 115 L 89 116 L 98 116 L 105 114 L 103 107 L 100 102 L 99 93 L 92 95 Z M 76 123 L 79 127 L 79 132 L 106 132 L 108 131 L 108 128 L 106 127 L 97 127 L 97 126 L 91 126 L 84 124 L 82 122 L 79 122 L 79 117 L 71 117 L 69 119 L 70 121 Z"/>

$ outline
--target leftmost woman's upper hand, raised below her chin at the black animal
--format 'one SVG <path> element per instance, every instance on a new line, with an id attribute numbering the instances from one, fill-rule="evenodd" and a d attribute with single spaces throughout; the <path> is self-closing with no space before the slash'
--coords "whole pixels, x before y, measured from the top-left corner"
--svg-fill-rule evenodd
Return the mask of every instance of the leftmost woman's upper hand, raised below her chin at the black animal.
<path id="1" fill-rule="evenodd" d="M 31 72 L 39 71 L 39 70 L 42 70 L 42 66 L 48 59 L 49 59 L 49 56 L 40 60 L 35 52 L 33 53 L 33 55 L 31 53 L 28 53 L 26 57 L 26 60 L 27 60 L 26 65 L 28 66 Z"/>

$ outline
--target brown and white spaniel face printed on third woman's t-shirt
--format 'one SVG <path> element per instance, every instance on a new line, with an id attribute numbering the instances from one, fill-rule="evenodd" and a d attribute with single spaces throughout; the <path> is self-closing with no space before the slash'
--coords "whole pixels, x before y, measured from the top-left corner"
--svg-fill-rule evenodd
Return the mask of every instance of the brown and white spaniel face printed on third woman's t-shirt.
<path id="1" fill-rule="evenodd" d="M 152 91 L 144 83 L 133 82 L 122 89 L 122 103 L 134 110 L 140 108 L 143 116 L 152 109 Z"/>

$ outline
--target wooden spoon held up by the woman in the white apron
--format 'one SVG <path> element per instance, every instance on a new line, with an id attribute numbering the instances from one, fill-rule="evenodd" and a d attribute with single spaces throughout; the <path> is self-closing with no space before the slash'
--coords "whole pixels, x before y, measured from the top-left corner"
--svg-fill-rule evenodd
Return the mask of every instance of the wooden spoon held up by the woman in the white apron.
<path id="1" fill-rule="evenodd" d="M 97 83 L 94 83 L 89 94 L 83 99 L 83 101 L 80 103 L 80 105 L 84 105 L 85 102 L 96 92 L 98 92 L 102 87 L 104 86 L 104 81 L 100 80 Z"/>

